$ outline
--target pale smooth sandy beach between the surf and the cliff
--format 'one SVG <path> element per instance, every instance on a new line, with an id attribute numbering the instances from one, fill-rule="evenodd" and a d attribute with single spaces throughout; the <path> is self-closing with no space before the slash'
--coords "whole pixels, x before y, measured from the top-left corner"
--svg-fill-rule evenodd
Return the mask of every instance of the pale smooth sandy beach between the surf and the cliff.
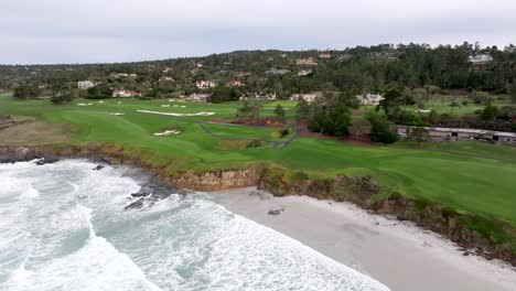
<path id="1" fill-rule="evenodd" d="M 212 195 L 230 212 L 286 234 L 394 291 L 516 290 L 515 268 L 463 256 L 456 245 L 434 233 L 370 215 L 352 204 L 272 197 L 256 188 Z"/>

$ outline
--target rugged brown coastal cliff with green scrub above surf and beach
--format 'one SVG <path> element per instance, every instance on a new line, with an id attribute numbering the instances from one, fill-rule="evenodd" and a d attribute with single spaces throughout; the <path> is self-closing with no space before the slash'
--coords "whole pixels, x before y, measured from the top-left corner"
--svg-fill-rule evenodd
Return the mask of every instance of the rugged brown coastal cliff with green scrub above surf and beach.
<path id="1" fill-rule="evenodd" d="M 271 164 L 254 164 L 241 169 L 183 170 L 174 164 L 173 158 L 157 159 L 149 152 L 128 151 L 120 146 L 105 143 L 0 147 L 0 163 L 34 159 L 55 162 L 77 158 L 138 166 L 176 188 L 211 192 L 258 186 L 276 196 L 307 195 L 318 200 L 351 202 L 372 213 L 410 220 L 441 234 L 461 246 L 464 256 L 475 252 L 487 259 L 501 259 L 516 266 L 516 228 L 513 225 L 493 217 L 459 213 L 420 197 L 397 192 L 383 193 L 381 185 L 368 175 L 310 179 L 303 172 L 292 172 Z"/>

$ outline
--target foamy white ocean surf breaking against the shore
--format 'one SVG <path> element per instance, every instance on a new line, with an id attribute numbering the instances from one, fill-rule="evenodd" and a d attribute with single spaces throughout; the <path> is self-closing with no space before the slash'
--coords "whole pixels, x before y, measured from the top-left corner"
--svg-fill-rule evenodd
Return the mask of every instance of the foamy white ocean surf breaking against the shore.
<path id="1" fill-rule="evenodd" d="M 388 290 L 208 194 L 133 197 L 147 175 L 95 166 L 0 164 L 0 290 Z"/>

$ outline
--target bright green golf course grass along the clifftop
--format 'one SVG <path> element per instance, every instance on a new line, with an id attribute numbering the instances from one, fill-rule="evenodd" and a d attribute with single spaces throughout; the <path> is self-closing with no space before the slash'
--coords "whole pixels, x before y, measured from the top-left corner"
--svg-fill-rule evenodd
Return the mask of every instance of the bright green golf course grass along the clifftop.
<path id="1" fill-rule="evenodd" d="M 255 148 L 236 151 L 216 150 L 218 140 L 204 132 L 196 122 L 211 118 L 230 118 L 235 104 L 194 105 L 186 108 L 163 108 L 166 100 L 106 100 L 104 104 L 87 100 L 93 106 L 79 107 L 74 101 L 52 106 L 47 101 L 15 101 L 0 98 L 0 114 L 33 116 L 40 120 L 73 125 L 74 141 L 114 141 L 153 152 L 179 157 L 178 166 L 207 169 L 244 165 L 255 161 L 271 161 L 294 170 L 326 176 L 336 173 L 370 173 L 384 186 L 401 193 L 422 196 L 459 211 L 494 215 L 516 224 L 516 164 L 496 160 L 464 157 L 440 152 L 477 152 L 494 158 L 513 158 L 509 148 L 494 151 L 491 144 L 451 143 L 428 146 L 423 150 L 409 148 L 358 148 L 335 140 L 302 138 L 284 149 Z M 183 104 L 181 104 L 183 105 Z M 293 108 L 294 104 L 284 103 Z M 272 115 L 275 103 L 265 106 L 265 115 Z M 173 112 L 214 111 L 213 117 L 170 117 L 137 112 L 137 109 Z M 288 110 L 289 114 L 293 109 Z M 108 112 L 125 112 L 111 116 Z M 255 129 L 208 125 L 216 133 L 243 138 L 270 137 L 270 129 Z M 181 128 L 183 133 L 153 137 L 165 128 Z M 272 139 L 272 138 L 270 138 Z M 1 140 L 0 143 L 8 141 Z M 466 147 L 466 148 L 464 148 Z M 469 147 L 469 148 L 467 148 Z M 514 159 L 514 158 L 513 158 Z"/>

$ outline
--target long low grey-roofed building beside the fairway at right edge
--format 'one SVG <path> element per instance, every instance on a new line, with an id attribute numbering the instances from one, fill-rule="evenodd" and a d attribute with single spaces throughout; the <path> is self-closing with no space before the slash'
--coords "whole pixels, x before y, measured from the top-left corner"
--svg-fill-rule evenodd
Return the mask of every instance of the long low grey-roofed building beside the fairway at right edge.
<path id="1" fill-rule="evenodd" d="M 394 129 L 401 138 L 412 134 L 416 127 L 395 126 Z M 483 140 L 496 143 L 516 144 L 516 133 L 504 131 L 492 131 L 471 128 L 438 128 L 426 127 L 427 138 L 434 141 L 445 140 Z"/>

